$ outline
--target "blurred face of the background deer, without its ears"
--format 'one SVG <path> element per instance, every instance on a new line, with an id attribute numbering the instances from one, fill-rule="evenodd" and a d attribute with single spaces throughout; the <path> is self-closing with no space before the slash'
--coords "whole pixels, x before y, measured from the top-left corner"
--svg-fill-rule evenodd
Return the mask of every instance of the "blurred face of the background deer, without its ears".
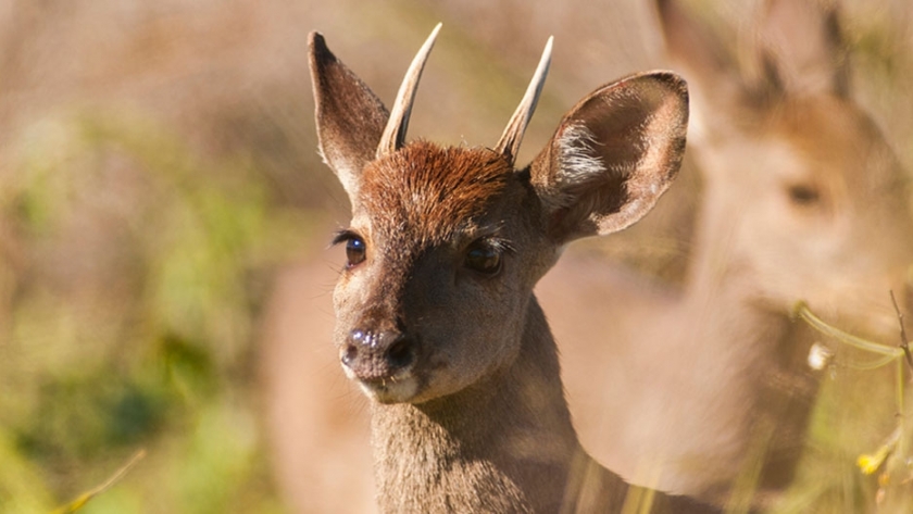
<path id="1" fill-rule="evenodd" d="M 864 113 L 805 99 L 696 154 L 706 201 L 723 205 L 709 223 L 726 227 L 717 234 L 729 259 L 763 285 L 761 297 L 896 325 L 888 291 L 908 290 L 913 217 L 905 174 Z"/>

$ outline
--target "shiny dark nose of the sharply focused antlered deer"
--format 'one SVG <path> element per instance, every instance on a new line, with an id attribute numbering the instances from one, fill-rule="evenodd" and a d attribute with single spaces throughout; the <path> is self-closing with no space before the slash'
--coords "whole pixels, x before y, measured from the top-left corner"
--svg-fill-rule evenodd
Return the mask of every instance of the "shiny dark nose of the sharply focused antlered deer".
<path id="1" fill-rule="evenodd" d="M 391 377 L 415 364 L 418 354 L 416 340 L 393 330 L 363 330 L 349 333 L 341 351 L 342 365 L 361 380 Z"/>

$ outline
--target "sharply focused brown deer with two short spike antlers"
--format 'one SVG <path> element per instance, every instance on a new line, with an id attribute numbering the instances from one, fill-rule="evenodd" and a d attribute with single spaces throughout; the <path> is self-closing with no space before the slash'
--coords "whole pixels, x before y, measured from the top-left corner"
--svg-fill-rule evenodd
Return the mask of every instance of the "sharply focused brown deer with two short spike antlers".
<path id="1" fill-rule="evenodd" d="M 372 399 L 385 512 L 615 512 L 628 486 L 577 442 L 533 286 L 573 239 L 620 230 L 674 178 L 687 125 L 671 73 L 601 87 L 514 170 L 550 43 L 495 149 L 407 143 L 437 29 L 388 115 L 311 36 L 320 148 L 352 203 L 336 242 L 336 347 Z M 703 512 L 686 498 L 653 507 Z"/>

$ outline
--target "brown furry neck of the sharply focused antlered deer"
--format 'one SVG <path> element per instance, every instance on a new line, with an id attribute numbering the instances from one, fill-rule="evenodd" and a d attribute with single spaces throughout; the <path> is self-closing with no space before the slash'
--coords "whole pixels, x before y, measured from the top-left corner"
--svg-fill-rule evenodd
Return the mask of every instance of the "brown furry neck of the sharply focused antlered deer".
<path id="1" fill-rule="evenodd" d="M 581 473 L 623 498 L 621 479 L 580 449 L 559 373 L 554 339 L 530 297 L 522 348 L 508 368 L 425 403 L 374 404 L 382 511 L 559 512 Z"/>

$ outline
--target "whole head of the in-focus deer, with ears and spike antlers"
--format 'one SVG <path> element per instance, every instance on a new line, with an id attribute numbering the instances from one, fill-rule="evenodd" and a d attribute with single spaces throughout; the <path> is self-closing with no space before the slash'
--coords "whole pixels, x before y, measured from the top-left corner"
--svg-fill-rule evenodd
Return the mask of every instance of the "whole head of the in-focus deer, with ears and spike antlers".
<path id="1" fill-rule="evenodd" d="M 336 346 L 347 375 L 382 403 L 452 394 L 512 364 L 533 287 L 561 247 L 647 213 L 685 145 L 684 83 L 645 74 L 581 100 L 530 166 L 515 170 L 550 43 L 493 150 L 405 143 L 435 34 L 390 115 L 312 35 L 321 150 L 352 202 L 336 238 L 348 261 L 334 293 Z"/>

